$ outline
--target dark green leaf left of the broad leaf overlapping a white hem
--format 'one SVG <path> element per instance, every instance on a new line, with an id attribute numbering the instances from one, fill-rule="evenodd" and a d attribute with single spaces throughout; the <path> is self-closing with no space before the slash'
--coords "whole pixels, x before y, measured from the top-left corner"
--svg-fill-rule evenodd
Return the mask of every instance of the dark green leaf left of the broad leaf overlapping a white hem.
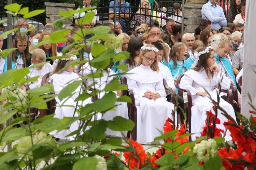
<path id="1" fill-rule="evenodd" d="M 108 122 L 105 120 L 101 120 L 89 129 L 89 133 L 92 137 L 100 138 L 102 135 L 105 135 L 107 126 Z"/>

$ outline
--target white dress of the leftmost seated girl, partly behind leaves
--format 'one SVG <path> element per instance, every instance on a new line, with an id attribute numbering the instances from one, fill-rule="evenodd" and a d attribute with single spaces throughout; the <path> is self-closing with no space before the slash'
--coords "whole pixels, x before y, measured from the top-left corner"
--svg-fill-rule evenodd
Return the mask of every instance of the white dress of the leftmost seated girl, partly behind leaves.
<path id="1" fill-rule="evenodd" d="M 62 71 L 60 74 L 52 75 L 50 77 L 49 82 L 53 84 L 54 93 L 59 94 L 60 91 L 68 85 L 68 83 L 72 83 L 74 81 L 79 81 L 79 80 L 81 79 L 77 74 L 72 72 Z M 71 97 L 64 98 L 62 101 L 60 101 L 58 96 L 55 97 L 57 107 L 55 110 L 54 118 L 63 119 L 64 117 L 78 117 L 78 113 L 75 112 L 76 102 L 74 100 L 79 96 L 80 90 L 81 90 L 81 86 L 77 87 L 76 89 L 74 89 L 73 95 Z M 84 101 L 83 105 L 85 105 L 86 103 L 88 104 L 89 101 Z M 69 107 L 69 106 L 58 107 L 61 105 L 73 105 L 74 107 Z M 81 105 L 81 103 L 79 103 L 79 105 Z M 70 138 L 75 138 L 75 136 L 67 137 L 67 135 L 79 128 L 81 128 L 80 122 L 75 121 L 70 125 L 69 129 L 61 130 L 58 133 L 57 133 L 57 130 L 54 130 L 49 134 L 53 135 L 55 138 L 70 139 Z"/>

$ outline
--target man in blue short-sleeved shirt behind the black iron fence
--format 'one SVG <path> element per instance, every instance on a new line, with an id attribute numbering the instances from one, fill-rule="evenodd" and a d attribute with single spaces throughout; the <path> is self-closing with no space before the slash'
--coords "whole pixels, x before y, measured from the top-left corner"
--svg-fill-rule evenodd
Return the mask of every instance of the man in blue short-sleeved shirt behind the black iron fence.
<path id="1" fill-rule="evenodd" d="M 109 4 L 109 18 L 114 18 L 114 1 L 111 1 Z M 122 6 L 122 7 L 119 7 Z M 119 14 L 119 13 L 127 13 L 127 14 Z M 130 18 L 130 4 L 125 0 L 116 0 L 116 21 L 119 22 L 122 26 L 125 25 L 126 20 Z M 122 27 L 122 31 L 124 28 Z"/>

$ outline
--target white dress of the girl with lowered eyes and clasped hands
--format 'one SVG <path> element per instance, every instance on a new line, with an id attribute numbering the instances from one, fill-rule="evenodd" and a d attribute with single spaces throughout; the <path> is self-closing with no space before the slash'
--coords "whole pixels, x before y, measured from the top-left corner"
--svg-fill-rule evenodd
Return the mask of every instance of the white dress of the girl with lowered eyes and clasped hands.
<path id="1" fill-rule="evenodd" d="M 157 129 L 162 131 L 168 117 L 173 120 L 174 105 L 166 101 L 161 73 L 144 65 L 128 73 L 125 77 L 128 88 L 133 90 L 137 107 L 137 142 L 146 144 L 161 135 Z M 155 100 L 143 97 L 146 91 L 158 92 L 161 97 Z"/>

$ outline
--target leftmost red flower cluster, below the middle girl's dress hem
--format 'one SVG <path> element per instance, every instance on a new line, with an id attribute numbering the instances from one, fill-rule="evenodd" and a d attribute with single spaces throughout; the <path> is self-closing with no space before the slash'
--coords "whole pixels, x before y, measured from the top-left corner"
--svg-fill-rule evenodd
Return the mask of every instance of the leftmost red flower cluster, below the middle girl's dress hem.
<path id="1" fill-rule="evenodd" d="M 126 147 L 137 149 L 136 152 L 131 152 L 129 168 L 134 169 L 134 167 L 136 167 L 139 169 L 140 166 L 143 167 L 146 164 L 148 155 L 145 153 L 144 148 L 141 144 L 138 144 L 138 142 L 135 142 L 131 139 L 129 139 L 129 141 L 131 142 L 131 146 Z M 129 161 L 129 153 L 130 152 L 124 152 L 124 157 L 127 163 Z"/>

